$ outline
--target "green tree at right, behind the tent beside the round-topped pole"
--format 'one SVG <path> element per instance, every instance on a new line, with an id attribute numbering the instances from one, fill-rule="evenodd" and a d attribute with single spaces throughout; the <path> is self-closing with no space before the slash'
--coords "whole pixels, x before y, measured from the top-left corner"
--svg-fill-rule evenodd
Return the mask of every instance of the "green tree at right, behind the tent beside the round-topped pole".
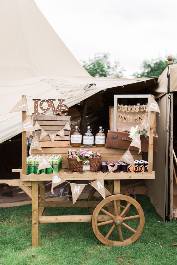
<path id="1" fill-rule="evenodd" d="M 173 59 L 174 62 L 176 62 L 176 59 Z M 159 76 L 164 71 L 164 69 L 167 67 L 168 61 L 162 60 L 162 58 L 144 60 L 141 66 L 140 73 L 136 72 L 133 74 L 133 77 L 139 78 L 139 77 L 150 77 L 150 76 Z"/>

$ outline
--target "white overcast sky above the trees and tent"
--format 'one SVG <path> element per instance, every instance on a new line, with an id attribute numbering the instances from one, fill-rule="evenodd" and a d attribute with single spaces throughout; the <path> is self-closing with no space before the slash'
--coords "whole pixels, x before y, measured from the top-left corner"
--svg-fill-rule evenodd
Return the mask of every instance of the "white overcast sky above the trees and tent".
<path id="1" fill-rule="evenodd" d="M 110 53 L 131 78 L 144 59 L 177 54 L 176 0 L 35 0 L 80 62 Z"/>

